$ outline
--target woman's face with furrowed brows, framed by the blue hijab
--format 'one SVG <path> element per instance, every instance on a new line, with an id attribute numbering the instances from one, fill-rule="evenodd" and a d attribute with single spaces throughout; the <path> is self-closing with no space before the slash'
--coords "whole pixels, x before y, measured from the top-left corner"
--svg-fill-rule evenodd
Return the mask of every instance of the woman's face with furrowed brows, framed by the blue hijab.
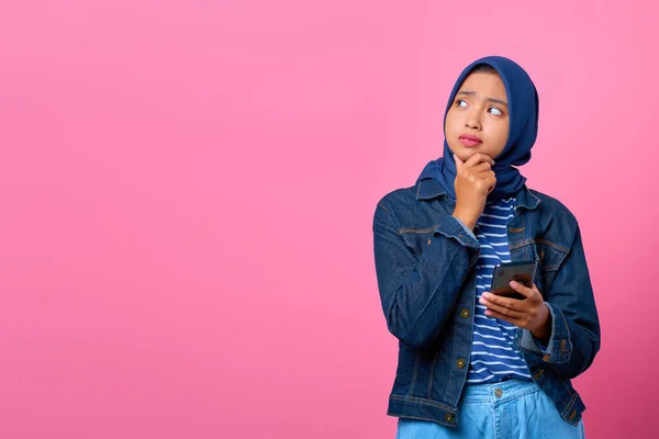
<path id="1" fill-rule="evenodd" d="M 446 113 L 444 130 L 448 147 L 462 161 L 477 153 L 496 159 L 509 136 L 507 98 L 499 75 L 469 75 Z"/>

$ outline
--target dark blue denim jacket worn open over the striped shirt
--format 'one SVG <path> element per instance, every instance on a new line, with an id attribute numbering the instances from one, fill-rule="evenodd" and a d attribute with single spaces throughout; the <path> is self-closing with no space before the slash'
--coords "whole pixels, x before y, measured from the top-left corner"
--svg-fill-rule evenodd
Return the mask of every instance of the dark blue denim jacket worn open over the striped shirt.
<path id="1" fill-rule="evenodd" d="M 585 406 L 571 379 L 600 349 L 600 323 L 579 225 L 559 201 L 526 187 L 507 226 L 511 260 L 536 260 L 551 314 L 540 345 L 518 329 L 515 348 L 533 380 L 573 425 Z M 479 243 L 451 216 L 455 201 L 436 180 L 387 194 L 376 207 L 378 289 L 399 360 L 388 415 L 459 425 L 458 402 L 471 353 Z"/>

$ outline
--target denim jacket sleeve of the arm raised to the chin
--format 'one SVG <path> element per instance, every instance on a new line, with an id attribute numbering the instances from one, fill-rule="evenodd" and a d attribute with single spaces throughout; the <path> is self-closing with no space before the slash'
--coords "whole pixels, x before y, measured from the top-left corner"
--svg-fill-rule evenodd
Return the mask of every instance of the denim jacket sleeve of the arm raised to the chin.
<path id="1" fill-rule="evenodd" d="M 391 207 L 381 201 L 373 217 L 373 249 L 389 331 L 409 346 L 427 347 L 447 322 L 478 259 L 478 240 L 456 218 L 445 216 L 420 256 L 399 233 Z"/>

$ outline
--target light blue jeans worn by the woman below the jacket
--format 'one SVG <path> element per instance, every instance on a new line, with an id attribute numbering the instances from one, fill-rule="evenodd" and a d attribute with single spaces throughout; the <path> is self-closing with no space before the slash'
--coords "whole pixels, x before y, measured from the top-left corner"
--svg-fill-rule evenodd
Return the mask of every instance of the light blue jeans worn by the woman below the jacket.
<path id="1" fill-rule="evenodd" d="M 583 420 L 566 423 L 551 399 L 534 382 L 511 380 L 466 385 L 457 428 L 400 418 L 396 439 L 582 439 Z"/>

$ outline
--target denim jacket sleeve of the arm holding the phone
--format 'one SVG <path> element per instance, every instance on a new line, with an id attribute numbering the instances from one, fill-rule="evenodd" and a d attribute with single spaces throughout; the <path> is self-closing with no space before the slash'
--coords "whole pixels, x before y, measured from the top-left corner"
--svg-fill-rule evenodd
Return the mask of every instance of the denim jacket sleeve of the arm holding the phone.
<path id="1" fill-rule="evenodd" d="M 520 347 L 541 356 L 560 378 L 573 379 L 592 364 L 600 350 L 600 322 L 579 225 L 570 251 L 544 293 L 551 313 L 549 342 L 543 346 L 524 330 Z"/>

